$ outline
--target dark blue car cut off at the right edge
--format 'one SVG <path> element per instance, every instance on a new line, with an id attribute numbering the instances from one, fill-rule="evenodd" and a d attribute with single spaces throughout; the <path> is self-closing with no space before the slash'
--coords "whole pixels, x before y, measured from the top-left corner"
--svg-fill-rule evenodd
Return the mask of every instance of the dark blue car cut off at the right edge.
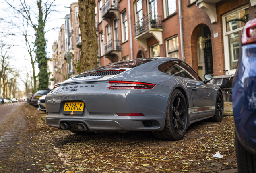
<path id="1" fill-rule="evenodd" d="M 256 18 L 243 29 L 242 50 L 233 80 L 235 147 L 240 172 L 256 172 Z"/>

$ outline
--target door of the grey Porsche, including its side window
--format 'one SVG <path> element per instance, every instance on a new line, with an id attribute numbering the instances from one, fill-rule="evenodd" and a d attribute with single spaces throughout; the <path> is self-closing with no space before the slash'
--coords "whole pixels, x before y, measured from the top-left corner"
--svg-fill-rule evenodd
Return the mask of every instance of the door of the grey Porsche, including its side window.
<path id="1" fill-rule="evenodd" d="M 213 104 L 213 84 L 204 84 L 202 79 L 188 64 L 181 61 L 174 61 L 174 64 L 188 81 L 187 84 L 192 94 L 194 111 L 196 113 L 213 112 L 215 110 L 215 104 Z"/>

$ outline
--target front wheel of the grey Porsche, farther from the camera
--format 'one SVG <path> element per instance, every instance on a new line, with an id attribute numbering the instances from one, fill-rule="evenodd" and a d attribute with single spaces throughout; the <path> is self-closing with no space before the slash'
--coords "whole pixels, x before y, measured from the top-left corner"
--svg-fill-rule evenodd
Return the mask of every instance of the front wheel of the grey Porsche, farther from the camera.
<path id="1" fill-rule="evenodd" d="M 224 113 L 224 101 L 221 93 L 218 91 L 215 103 L 215 114 L 209 120 L 213 122 L 221 122 Z"/>

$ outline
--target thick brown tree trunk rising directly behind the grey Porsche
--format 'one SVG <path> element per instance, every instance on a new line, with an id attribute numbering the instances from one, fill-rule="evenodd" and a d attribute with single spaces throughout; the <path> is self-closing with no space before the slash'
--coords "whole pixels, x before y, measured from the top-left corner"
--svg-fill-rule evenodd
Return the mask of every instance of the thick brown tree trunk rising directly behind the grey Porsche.
<path id="1" fill-rule="evenodd" d="M 79 0 L 81 58 L 79 72 L 97 67 L 98 41 L 95 27 L 95 0 Z"/>

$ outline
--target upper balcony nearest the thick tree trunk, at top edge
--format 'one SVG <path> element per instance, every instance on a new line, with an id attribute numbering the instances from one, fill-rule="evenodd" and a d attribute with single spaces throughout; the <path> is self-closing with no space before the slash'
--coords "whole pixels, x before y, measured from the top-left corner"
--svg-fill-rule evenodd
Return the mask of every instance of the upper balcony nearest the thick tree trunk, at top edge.
<path id="1" fill-rule="evenodd" d="M 111 18 L 119 20 L 119 6 L 117 0 L 108 0 L 102 6 L 102 18 L 111 24 Z"/>

